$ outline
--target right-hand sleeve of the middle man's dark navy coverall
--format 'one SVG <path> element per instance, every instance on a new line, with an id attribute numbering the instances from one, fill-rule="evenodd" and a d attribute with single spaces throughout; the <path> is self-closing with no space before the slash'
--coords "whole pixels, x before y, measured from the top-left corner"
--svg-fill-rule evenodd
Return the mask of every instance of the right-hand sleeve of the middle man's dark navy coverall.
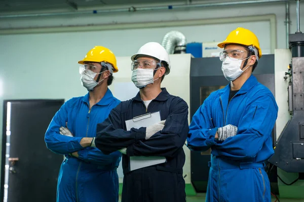
<path id="1" fill-rule="evenodd" d="M 128 156 L 174 157 L 185 143 L 188 126 L 188 106 L 180 99 L 172 103 L 172 112 L 165 127 L 147 140 L 137 141 L 127 147 Z"/>

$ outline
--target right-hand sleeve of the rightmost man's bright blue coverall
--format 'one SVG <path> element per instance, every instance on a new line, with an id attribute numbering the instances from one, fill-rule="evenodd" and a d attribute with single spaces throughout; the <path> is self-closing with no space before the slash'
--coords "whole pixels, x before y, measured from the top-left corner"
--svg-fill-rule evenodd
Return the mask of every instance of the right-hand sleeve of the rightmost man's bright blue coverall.
<path id="1" fill-rule="evenodd" d="M 239 122 L 237 135 L 217 144 L 214 154 L 234 160 L 254 158 L 264 142 L 271 138 L 277 116 L 278 107 L 272 97 L 254 98 Z"/>

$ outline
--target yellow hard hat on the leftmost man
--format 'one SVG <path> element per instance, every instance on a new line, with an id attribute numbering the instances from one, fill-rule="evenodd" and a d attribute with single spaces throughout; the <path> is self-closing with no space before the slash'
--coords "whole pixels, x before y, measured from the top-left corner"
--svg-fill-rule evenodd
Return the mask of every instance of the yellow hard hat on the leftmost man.
<path id="1" fill-rule="evenodd" d="M 113 72 L 118 72 L 116 57 L 111 52 L 110 49 L 103 46 L 95 46 L 93 47 L 85 56 L 85 58 L 79 61 L 79 64 L 84 64 L 85 62 L 107 62 L 110 63 L 114 70 Z"/>

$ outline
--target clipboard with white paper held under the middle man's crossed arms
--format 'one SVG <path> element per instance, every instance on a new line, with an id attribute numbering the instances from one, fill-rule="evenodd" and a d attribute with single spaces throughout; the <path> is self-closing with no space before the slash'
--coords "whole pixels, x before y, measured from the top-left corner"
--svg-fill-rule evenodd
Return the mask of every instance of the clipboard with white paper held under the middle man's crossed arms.
<path id="1" fill-rule="evenodd" d="M 160 112 L 148 113 L 126 121 L 127 130 L 154 125 L 161 122 Z M 165 157 L 130 157 L 130 171 L 165 163 Z"/>

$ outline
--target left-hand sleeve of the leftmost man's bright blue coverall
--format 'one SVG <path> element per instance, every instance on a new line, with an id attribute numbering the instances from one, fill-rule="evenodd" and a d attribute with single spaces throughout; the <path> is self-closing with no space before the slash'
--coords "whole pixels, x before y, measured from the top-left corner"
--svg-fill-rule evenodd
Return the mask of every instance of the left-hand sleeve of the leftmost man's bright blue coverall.
<path id="1" fill-rule="evenodd" d="M 45 134 L 47 147 L 54 153 L 67 155 L 83 149 L 80 141 L 82 137 L 69 137 L 59 134 L 59 128 L 65 127 L 67 122 L 67 103 L 63 104 L 60 110 L 53 117 Z"/>

